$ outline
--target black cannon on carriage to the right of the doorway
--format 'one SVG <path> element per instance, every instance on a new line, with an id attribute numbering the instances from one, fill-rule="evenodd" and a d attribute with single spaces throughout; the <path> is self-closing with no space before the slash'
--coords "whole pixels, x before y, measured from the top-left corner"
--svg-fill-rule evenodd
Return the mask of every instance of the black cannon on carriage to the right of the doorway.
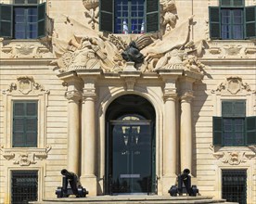
<path id="1" fill-rule="evenodd" d="M 177 194 L 182 196 L 183 194 L 189 195 L 190 197 L 196 197 L 199 190 L 197 185 L 191 185 L 190 171 L 185 169 L 183 173 L 179 174 L 177 177 L 178 185 L 172 185 L 168 193 L 172 197 L 176 197 Z"/>

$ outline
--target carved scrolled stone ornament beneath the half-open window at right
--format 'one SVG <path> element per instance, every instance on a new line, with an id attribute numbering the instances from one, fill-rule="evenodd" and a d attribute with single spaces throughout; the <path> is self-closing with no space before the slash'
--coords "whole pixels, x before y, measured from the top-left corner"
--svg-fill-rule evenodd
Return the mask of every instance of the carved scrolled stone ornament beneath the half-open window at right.
<path id="1" fill-rule="evenodd" d="M 246 163 L 248 159 L 255 158 L 256 154 L 253 151 L 248 150 L 224 150 L 224 151 L 214 151 L 214 147 L 211 145 L 210 149 L 212 151 L 212 156 L 215 159 L 219 159 L 223 163 L 229 165 L 239 165 L 241 163 Z"/>

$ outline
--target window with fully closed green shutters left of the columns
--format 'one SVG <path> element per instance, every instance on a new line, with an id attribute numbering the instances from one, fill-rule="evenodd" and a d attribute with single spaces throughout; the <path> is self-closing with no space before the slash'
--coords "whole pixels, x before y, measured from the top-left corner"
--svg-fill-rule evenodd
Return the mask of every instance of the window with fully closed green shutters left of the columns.
<path id="1" fill-rule="evenodd" d="M 13 102 L 12 147 L 37 147 L 37 101 Z"/>

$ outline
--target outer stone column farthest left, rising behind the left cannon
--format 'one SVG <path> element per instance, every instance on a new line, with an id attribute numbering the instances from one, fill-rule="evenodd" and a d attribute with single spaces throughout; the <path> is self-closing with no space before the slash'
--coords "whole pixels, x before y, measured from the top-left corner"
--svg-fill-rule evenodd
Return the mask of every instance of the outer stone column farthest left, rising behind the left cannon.
<path id="1" fill-rule="evenodd" d="M 67 91 L 68 104 L 68 163 L 67 169 L 78 174 L 80 159 L 80 99 L 82 94 L 77 90 Z"/>

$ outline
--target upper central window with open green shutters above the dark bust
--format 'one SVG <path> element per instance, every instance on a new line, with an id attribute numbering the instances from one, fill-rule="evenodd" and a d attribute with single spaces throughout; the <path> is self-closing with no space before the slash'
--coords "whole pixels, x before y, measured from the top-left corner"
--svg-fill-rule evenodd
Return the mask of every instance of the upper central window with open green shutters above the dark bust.
<path id="1" fill-rule="evenodd" d="M 99 9 L 101 32 L 159 31 L 159 0 L 101 0 Z"/>

